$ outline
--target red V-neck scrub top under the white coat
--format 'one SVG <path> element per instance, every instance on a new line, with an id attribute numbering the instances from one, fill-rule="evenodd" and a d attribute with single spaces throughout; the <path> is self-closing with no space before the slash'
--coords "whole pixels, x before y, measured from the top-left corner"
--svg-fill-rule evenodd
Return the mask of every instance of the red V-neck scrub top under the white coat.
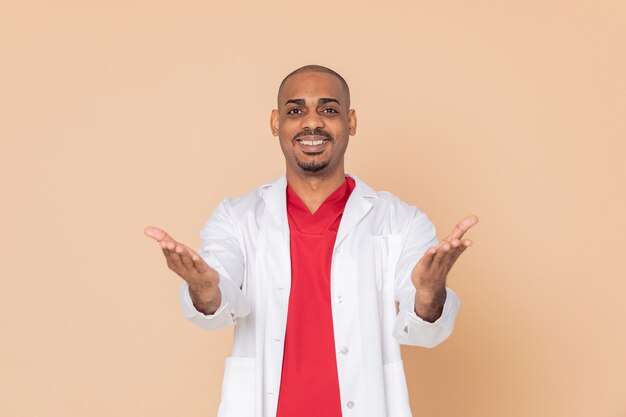
<path id="1" fill-rule="evenodd" d="M 346 177 L 314 214 L 287 186 L 291 292 L 277 417 L 341 417 L 330 267 L 354 186 Z"/>

